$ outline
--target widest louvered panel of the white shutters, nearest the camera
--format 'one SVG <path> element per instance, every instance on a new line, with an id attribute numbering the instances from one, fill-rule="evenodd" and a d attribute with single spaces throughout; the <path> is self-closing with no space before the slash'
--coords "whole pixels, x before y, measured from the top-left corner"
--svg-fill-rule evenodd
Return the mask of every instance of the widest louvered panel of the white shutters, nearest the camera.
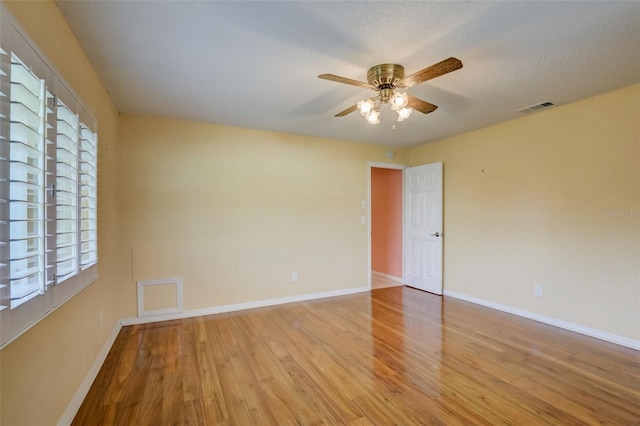
<path id="1" fill-rule="evenodd" d="M 45 85 L 11 54 L 10 307 L 44 293 Z"/>

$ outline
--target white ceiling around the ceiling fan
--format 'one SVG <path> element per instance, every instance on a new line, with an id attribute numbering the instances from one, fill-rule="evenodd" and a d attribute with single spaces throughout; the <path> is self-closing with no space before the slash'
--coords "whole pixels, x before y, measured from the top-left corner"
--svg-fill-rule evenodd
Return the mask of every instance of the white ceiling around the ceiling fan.
<path id="1" fill-rule="evenodd" d="M 117 108 L 412 146 L 640 82 L 640 2 L 57 1 Z M 369 67 L 464 68 L 408 89 L 439 106 L 392 130 L 354 112 Z"/>

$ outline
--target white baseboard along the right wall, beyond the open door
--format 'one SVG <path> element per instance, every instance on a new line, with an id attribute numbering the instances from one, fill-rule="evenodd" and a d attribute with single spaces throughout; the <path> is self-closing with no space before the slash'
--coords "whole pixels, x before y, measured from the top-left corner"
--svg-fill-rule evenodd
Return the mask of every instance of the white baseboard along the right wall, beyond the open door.
<path id="1" fill-rule="evenodd" d="M 602 330 L 596 330 L 594 328 L 585 327 L 583 325 L 568 322 L 568 321 L 558 320 L 555 318 L 536 314 L 534 312 L 529 312 L 523 309 L 513 308 L 511 306 L 492 302 L 490 300 L 480 299 L 474 296 L 468 296 L 466 294 L 458 293 L 455 291 L 445 290 L 443 294 L 445 296 L 453 297 L 455 299 L 460 299 L 467 302 L 475 303 L 476 305 L 482 305 L 487 308 L 496 309 L 498 311 L 517 315 L 519 317 L 528 318 L 534 321 L 553 325 L 555 327 L 564 328 L 565 330 L 574 331 L 580 334 L 585 334 L 587 336 L 595 337 L 596 339 L 605 340 L 607 342 L 616 343 L 618 345 L 626 346 L 628 348 L 640 350 L 640 341 L 633 340 L 628 337 L 620 336 L 620 335 L 609 333 Z"/>

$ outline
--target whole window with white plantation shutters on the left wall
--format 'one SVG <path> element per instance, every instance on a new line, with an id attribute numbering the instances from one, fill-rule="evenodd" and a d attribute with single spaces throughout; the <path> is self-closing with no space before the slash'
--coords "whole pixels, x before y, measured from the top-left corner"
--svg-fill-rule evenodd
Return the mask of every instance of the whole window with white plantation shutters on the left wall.
<path id="1" fill-rule="evenodd" d="M 97 277 L 97 135 L 94 119 L 4 9 L 1 19 L 4 346 Z"/>

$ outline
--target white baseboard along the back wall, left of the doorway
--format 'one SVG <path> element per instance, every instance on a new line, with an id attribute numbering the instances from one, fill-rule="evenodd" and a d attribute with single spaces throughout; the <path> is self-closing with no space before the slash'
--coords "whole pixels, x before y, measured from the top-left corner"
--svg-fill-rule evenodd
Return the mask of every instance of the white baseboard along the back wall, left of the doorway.
<path id="1" fill-rule="evenodd" d="M 211 308 L 193 309 L 174 314 L 154 315 L 153 317 L 124 318 L 120 321 L 123 326 L 134 324 L 146 324 L 157 321 L 169 321 L 175 319 L 198 317 L 202 315 L 222 314 L 225 312 L 243 311 L 245 309 L 264 308 L 266 306 L 283 305 L 285 303 L 303 302 L 305 300 L 323 299 L 325 297 L 346 296 L 348 294 L 363 293 L 371 290 L 370 287 L 353 287 L 343 290 L 323 291 L 320 293 L 301 294 L 298 296 L 279 297 L 276 299 L 256 300 L 254 302 L 235 303 L 231 305 L 214 306 Z"/>

